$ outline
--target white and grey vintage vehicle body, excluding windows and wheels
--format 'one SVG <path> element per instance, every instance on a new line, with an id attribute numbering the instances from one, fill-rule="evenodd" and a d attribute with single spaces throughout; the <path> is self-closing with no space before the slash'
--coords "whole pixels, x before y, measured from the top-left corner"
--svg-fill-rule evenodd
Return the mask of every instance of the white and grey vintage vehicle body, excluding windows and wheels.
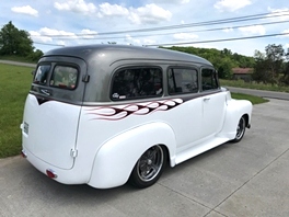
<path id="1" fill-rule="evenodd" d="M 88 49 L 93 50 L 93 55 L 78 56 L 79 50 Z M 119 50 L 125 50 L 128 57 L 118 54 Z M 147 59 L 143 50 L 148 50 Z M 248 101 L 233 100 L 230 92 L 220 87 L 201 89 L 199 75 L 203 67 L 212 68 L 209 62 L 195 56 L 160 49 L 152 57 L 151 52 L 154 54 L 155 50 L 131 46 L 95 46 L 61 48 L 46 54 L 39 60 L 38 68 L 43 62 L 54 62 L 47 72 L 50 81 L 39 84 L 36 76 L 42 72 L 36 71 L 34 79 L 37 82 L 33 83 L 27 95 L 21 125 L 23 156 L 41 172 L 53 175 L 60 183 L 85 183 L 96 189 L 108 189 L 125 184 L 140 157 L 155 145 L 163 148 L 169 164 L 175 167 L 235 139 L 241 117 L 244 117 L 246 127 L 251 126 L 252 104 Z M 159 50 L 161 55 L 169 53 L 167 57 L 158 58 Z M 103 59 L 112 53 L 117 54 L 115 59 Z M 180 60 L 176 62 L 175 57 L 171 60 L 170 55 L 176 55 Z M 92 61 L 92 57 L 101 60 Z M 187 60 L 189 58 L 193 58 L 192 62 Z M 66 61 L 68 64 L 65 66 L 77 68 L 82 78 L 71 85 L 71 90 L 62 90 L 51 80 L 57 62 L 62 66 Z M 152 65 L 153 70 L 160 68 L 162 79 L 158 82 L 162 87 L 158 91 L 161 93 L 155 93 L 153 98 L 126 100 L 112 92 L 115 73 L 124 67 L 136 68 L 138 65 L 144 68 Z M 178 68 L 182 65 L 194 68 L 198 75 L 199 88 L 196 92 L 167 94 L 166 68 L 176 65 Z M 103 79 L 93 76 L 92 71 L 97 68 L 100 73 L 108 70 L 108 76 Z M 76 95 L 72 95 L 72 91 L 76 91 Z M 90 91 L 100 94 L 92 96 L 89 95 Z M 72 96 L 67 96 L 67 93 Z"/>

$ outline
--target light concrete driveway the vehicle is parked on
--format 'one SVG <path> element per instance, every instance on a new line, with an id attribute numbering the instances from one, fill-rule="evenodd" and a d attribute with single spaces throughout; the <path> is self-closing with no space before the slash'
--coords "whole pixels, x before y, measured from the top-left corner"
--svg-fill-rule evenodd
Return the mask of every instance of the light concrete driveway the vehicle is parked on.
<path id="1" fill-rule="evenodd" d="M 0 216 L 288 217 L 289 102 L 255 105 L 252 128 L 167 168 L 146 190 L 59 184 L 25 159 L 0 160 Z"/>

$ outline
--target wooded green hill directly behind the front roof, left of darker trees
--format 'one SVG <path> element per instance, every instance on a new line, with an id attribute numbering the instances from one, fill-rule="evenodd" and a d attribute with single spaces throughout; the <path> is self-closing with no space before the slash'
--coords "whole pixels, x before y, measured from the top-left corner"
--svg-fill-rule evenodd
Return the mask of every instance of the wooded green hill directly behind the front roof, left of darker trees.
<path id="1" fill-rule="evenodd" d="M 253 57 L 246 57 L 236 53 L 232 54 L 232 52 L 227 48 L 223 50 L 176 46 L 162 48 L 184 52 L 208 59 L 218 70 L 219 78 L 222 79 L 230 79 L 232 77 L 232 68 L 234 67 L 253 68 L 255 65 Z"/>

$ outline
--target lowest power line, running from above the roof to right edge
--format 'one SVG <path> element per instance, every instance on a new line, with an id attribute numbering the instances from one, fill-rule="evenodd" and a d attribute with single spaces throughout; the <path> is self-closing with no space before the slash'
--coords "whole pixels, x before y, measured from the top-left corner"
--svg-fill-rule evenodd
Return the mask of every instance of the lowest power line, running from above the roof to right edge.
<path id="1" fill-rule="evenodd" d="M 143 46 L 152 47 L 152 46 L 205 44 L 205 43 L 229 42 L 229 41 L 240 41 L 240 39 L 253 39 L 253 38 L 259 38 L 259 37 L 274 37 L 274 36 L 281 36 L 281 35 L 289 35 L 289 33 L 276 33 L 276 34 L 268 34 L 268 35 L 256 35 L 256 36 L 247 36 L 247 37 L 231 37 L 231 38 L 208 39 L 208 41 L 185 42 L 185 43 L 164 43 L 164 44 L 143 45 Z"/>

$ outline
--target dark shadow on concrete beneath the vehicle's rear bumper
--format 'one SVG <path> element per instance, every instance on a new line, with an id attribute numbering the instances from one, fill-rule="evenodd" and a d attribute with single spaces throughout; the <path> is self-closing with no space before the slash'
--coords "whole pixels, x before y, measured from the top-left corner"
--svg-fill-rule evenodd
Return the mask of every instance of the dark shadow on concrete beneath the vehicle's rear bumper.
<path id="1" fill-rule="evenodd" d="M 23 174 L 19 174 L 22 176 L 20 183 L 21 195 L 28 198 L 38 198 L 51 205 L 59 203 L 101 205 L 141 191 L 129 184 L 107 190 L 94 189 L 86 184 L 61 184 L 41 173 L 28 162 L 24 161 L 23 163 L 25 169 L 21 170 Z"/>

